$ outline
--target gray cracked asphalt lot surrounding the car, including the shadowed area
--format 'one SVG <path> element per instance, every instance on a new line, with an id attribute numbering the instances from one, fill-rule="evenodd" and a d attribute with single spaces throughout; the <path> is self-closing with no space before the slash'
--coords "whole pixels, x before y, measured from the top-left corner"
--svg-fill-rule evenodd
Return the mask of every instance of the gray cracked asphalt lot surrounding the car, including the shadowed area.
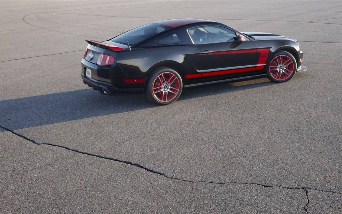
<path id="1" fill-rule="evenodd" d="M 0 213 L 341 213 L 341 1 L 0 3 Z M 82 83 L 84 39 L 182 17 L 298 39 L 308 71 L 168 106 Z"/>

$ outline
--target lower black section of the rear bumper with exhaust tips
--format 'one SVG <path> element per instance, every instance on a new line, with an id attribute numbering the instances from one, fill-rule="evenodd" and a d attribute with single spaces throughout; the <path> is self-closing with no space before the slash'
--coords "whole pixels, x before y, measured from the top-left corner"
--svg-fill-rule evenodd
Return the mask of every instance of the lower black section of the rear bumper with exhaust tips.
<path id="1" fill-rule="evenodd" d="M 88 78 L 83 73 L 81 73 L 83 83 L 93 88 L 94 90 L 100 91 L 100 93 L 106 95 L 127 95 L 127 94 L 137 94 L 142 93 L 142 88 L 116 88 L 110 83 Z"/>

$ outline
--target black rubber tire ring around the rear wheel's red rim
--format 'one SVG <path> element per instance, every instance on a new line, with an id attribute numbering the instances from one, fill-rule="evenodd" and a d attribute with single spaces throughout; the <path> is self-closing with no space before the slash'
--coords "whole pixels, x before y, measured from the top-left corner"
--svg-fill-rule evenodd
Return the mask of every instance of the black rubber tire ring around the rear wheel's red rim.
<path id="1" fill-rule="evenodd" d="M 155 98 L 154 96 L 154 93 L 153 93 L 153 84 L 154 84 L 154 81 L 155 79 L 162 73 L 171 73 L 173 75 L 176 76 L 176 78 L 178 79 L 179 81 L 179 91 L 177 93 L 177 95 L 170 101 L 168 102 L 161 102 L 159 101 L 158 99 Z M 167 104 L 170 104 L 174 101 L 176 101 L 179 96 L 181 95 L 182 93 L 182 90 L 183 90 L 183 81 L 182 81 L 182 78 L 181 76 L 175 71 L 173 70 L 172 68 L 169 68 L 169 67 L 159 67 L 157 68 L 154 72 L 152 72 L 148 78 L 147 78 L 147 83 L 146 83 L 146 87 L 145 87 L 145 94 L 147 96 L 147 98 L 151 101 L 153 101 L 154 103 L 156 104 L 159 104 L 159 105 L 167 105 Z"/>

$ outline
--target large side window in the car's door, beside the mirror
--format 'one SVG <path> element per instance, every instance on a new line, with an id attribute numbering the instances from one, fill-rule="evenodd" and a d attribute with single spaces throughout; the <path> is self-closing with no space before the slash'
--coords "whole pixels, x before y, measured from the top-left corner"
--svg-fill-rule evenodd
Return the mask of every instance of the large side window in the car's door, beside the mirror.
<path id="1" fill-rule="evenodd" d="M 188 29 L 188 33 L 196 45 L 234 41 L 234 31 L 221 26 L 202 26 Z"/>

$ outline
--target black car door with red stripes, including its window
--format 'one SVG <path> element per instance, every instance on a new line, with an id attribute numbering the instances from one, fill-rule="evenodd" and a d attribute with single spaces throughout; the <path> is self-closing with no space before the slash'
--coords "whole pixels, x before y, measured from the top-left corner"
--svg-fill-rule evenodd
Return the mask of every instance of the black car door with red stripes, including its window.
<path id="1" fill-rule="evenodd" d="M 238 41 L 238 33 L 215 25 L 190 28 L 188 33 L 195 46 L 198 72 L 202 77 L 238 73 L 243 76 L 243 72 L 255 70 L 257 51 L 248 38 Z"/>

